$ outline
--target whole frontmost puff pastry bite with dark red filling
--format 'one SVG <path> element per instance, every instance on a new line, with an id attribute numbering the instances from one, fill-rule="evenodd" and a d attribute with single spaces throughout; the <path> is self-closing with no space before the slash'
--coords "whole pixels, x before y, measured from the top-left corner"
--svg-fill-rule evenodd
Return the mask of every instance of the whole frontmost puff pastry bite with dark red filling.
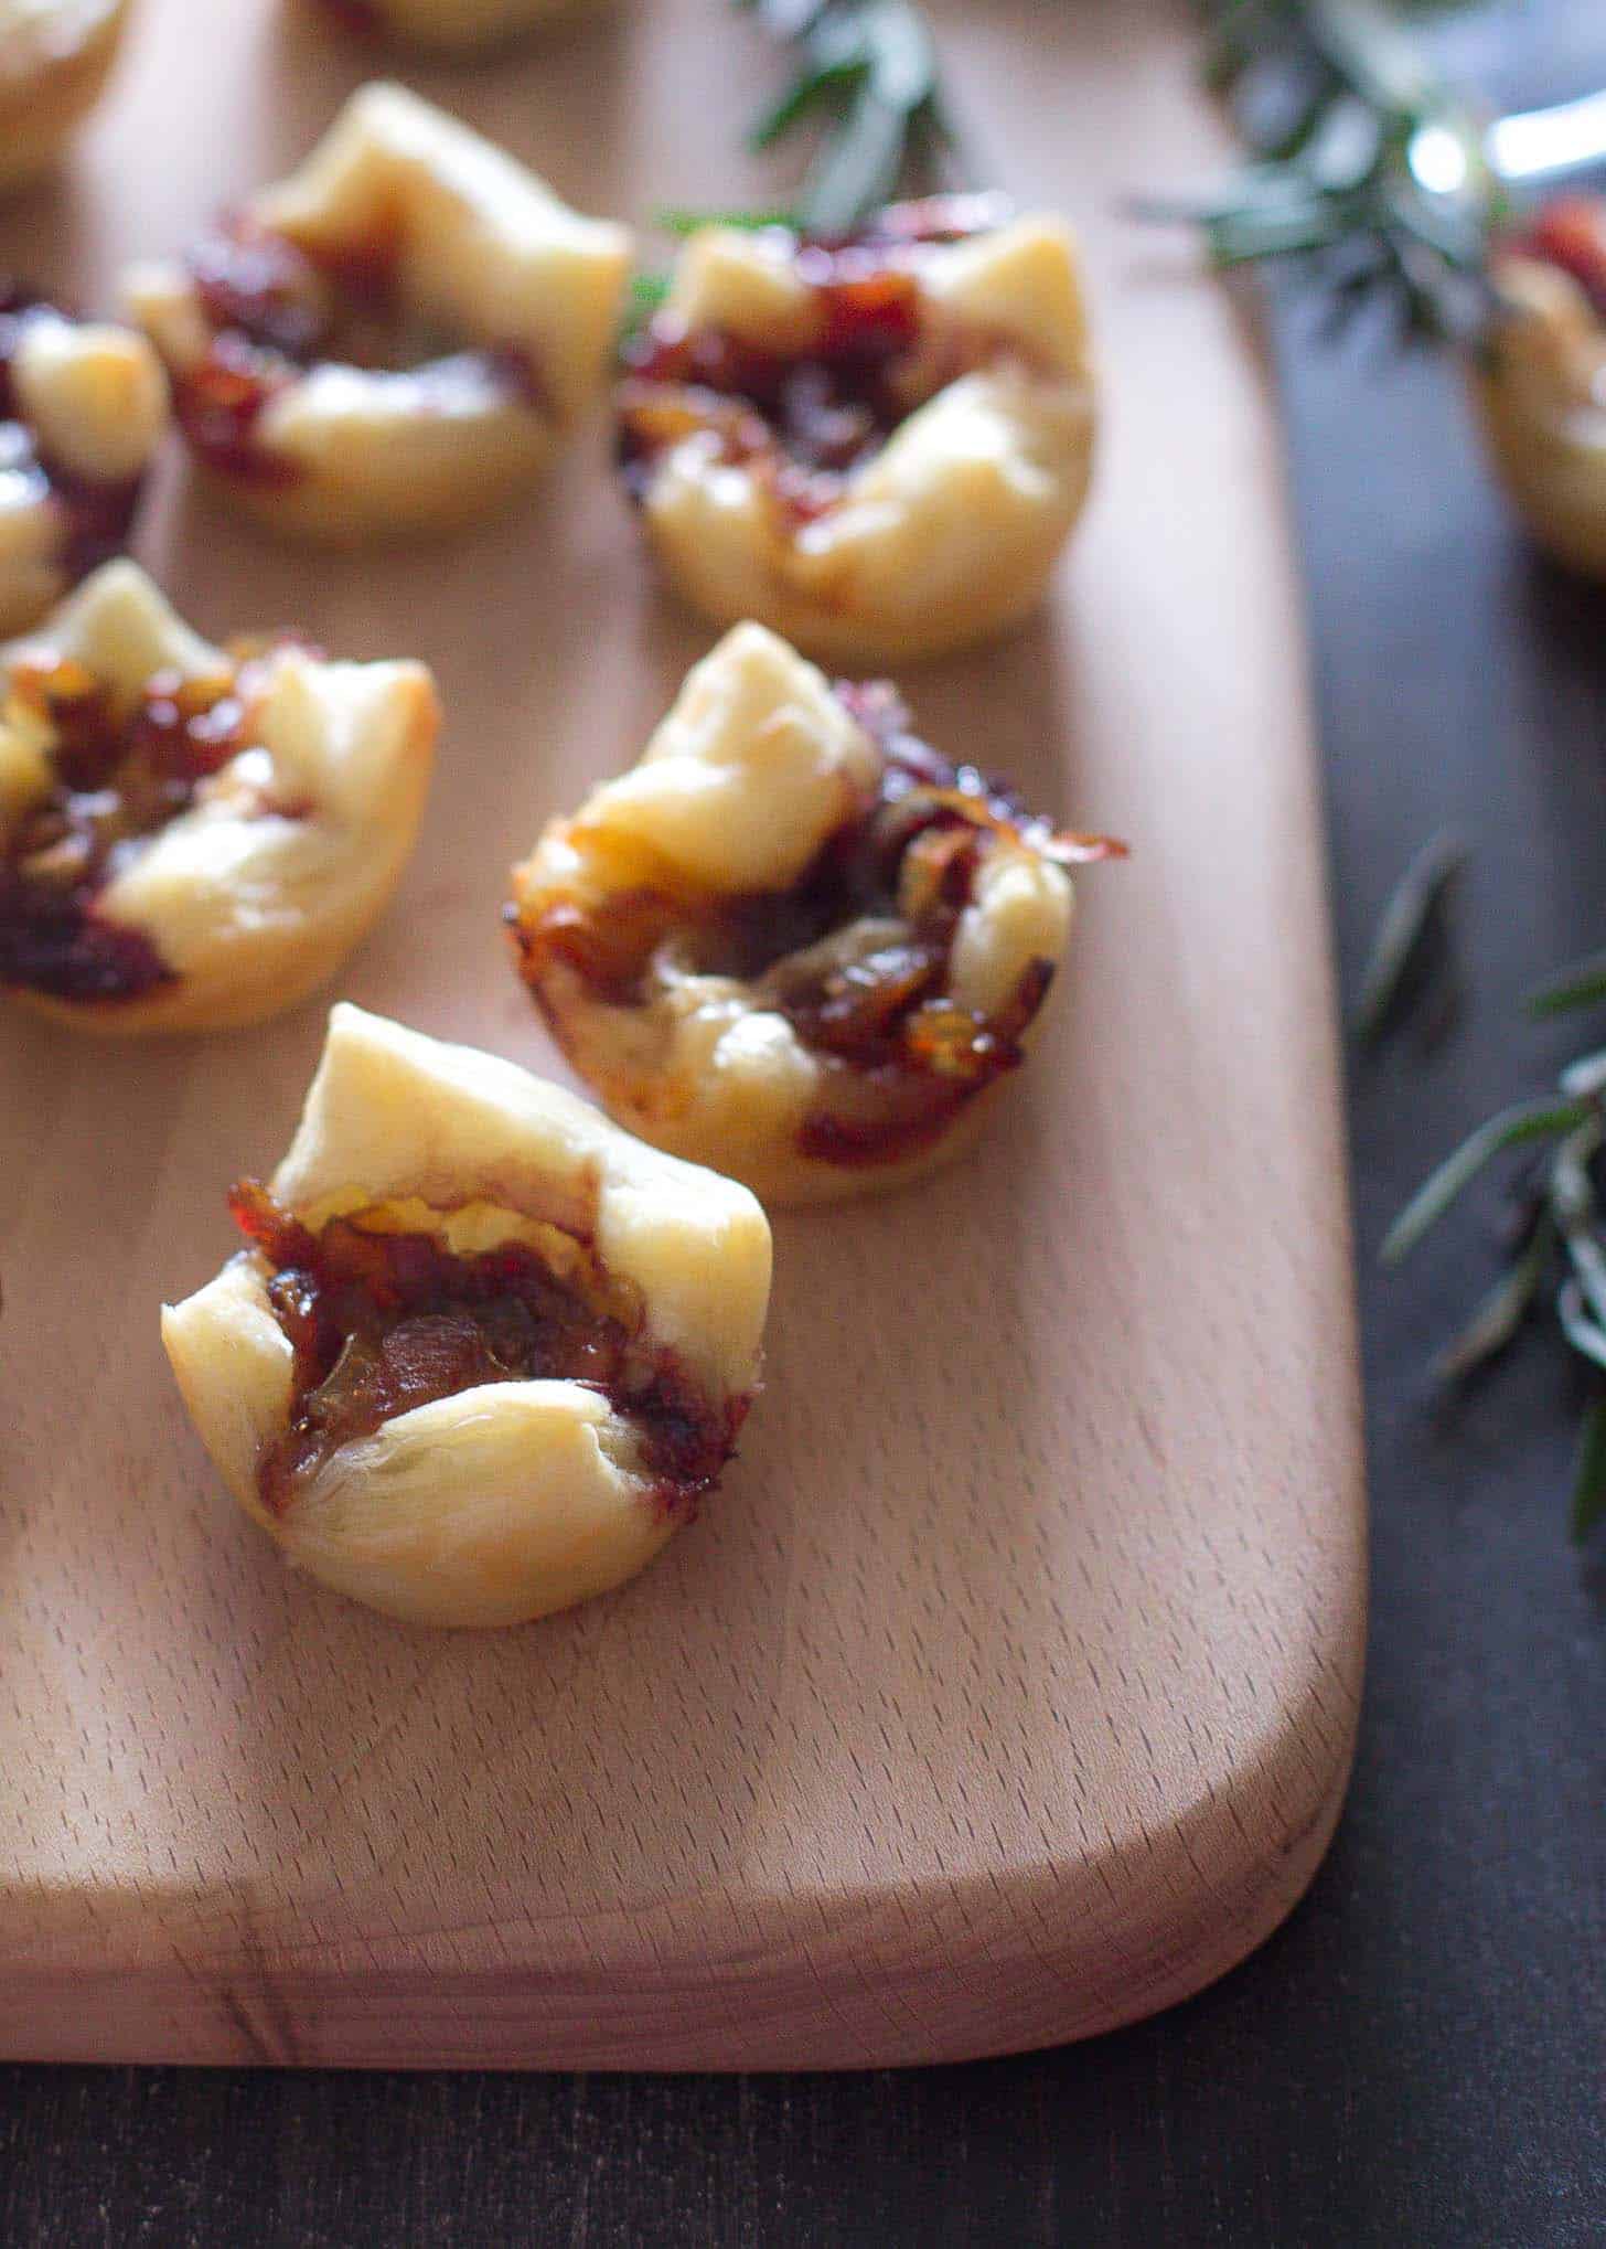
<path id="1" fill-rule="evenodd" d="M 769 1228 L 511 1062 L 340 1005 L 250 1248 L 162 1313 L 225 1484 L 286 1556 L 418 1624 L 605 1592 L 718 1480 Z"/>

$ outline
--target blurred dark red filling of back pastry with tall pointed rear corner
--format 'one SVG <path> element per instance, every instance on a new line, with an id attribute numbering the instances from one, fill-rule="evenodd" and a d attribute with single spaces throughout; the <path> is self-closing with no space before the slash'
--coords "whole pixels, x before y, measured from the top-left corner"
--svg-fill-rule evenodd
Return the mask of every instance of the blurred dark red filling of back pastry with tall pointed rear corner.
<path id="1" fill-rule="evenodd" d="M 412 373 L 418 405 L 448 409 L 466 389 L 544 412 L 540 373 L 513 346 L 459 349 L 400 297 L 400 243 L 310 252 L 245 220 L 209 234 L 189 274 L 211 328 L 205 358 L 175 376 L 178 423 L 209 468 L 247 484 L 299 470 L 261 443 L 272 400 L 324 364 Z"/>

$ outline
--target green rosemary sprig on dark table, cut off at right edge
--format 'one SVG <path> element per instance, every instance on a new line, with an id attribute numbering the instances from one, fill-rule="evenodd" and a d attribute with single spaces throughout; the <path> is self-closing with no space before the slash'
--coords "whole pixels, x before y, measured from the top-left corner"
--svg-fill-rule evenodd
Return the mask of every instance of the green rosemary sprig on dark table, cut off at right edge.
<path id="1" fill-rule="evenodd" d="M 1462 1140 L 1399 1212 L 1381 1255 L 1386 1264 L 1399 1264 L 1496 1156 L 1536 1142 L 1548 1145 L 1507 1273 L 1440 1354 L 1437 1372 L 1460 1381 L 1487 1365 L 1554 1289 L 1557 1327 L 1593 1374 L 1570 1511 L 1572 1538 L 1584 1541 L 1606 1518 L 1606 1235 L 1599 1178 L 1606 1048 L 1572 1062 L 1552 1098 L 1503 1109 Z"/>

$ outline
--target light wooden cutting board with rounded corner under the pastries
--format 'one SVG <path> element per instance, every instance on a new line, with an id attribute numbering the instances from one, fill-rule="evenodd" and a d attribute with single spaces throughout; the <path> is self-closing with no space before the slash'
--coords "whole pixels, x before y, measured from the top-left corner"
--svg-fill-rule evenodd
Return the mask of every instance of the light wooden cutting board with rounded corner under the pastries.
<path id="1" fill-rule="evenodd" d="M 1264 371 L 1122 189 L 1219 160 L 1161 0 L 938 7 L 981 164 L 1086 232 L 1107 425 L 1057 600 L 909 681 L 922 731 L 1134 843 L 983 1154 L 783 1217 L 769 1388 L 704 1520 L 612 1599 L 409 1631 L 220 1496 L 157 1302 L 232 1248 L 324 1010 L 117 1053 L 0 1023 L 0 2049 L 794 2067 L 1082 2038 L 1305 1889 L 1363 1651 L 1363 1493 L 1305 650 Z M 146 0 L 0 261 L 106 304 L 362 74 L 272 0 Z M 587 209 L 774 196 L 776 56 L 637 0 L 416 83 Z M 508 861 L 630 762 L 711 634 L 603 432 L 511 522 L 274 551 L 173 463 L 142 556 L 209 632 L 427 657 L 448 729 L 340 990 L 556 1068 Z"/>

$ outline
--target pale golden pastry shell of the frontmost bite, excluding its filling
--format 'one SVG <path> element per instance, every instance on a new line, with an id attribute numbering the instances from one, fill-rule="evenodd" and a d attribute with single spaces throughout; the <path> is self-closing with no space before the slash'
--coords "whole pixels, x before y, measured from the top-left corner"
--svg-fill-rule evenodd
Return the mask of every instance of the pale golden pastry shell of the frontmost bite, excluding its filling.
<path id="1" fill-rule="evenodd" d="M 454 1257 L 533 1255 L 628 1372 L 481 1381 L 324 1448 L 288 1487 L 295 1352 L 272 1264 L 236 1255 L 162 1313 L 189 1415 L 241 1507 L 324 1586 L 418 1624 L 520 1624 L 641 1570 L 729 1457 L 758 1385 L 769 1228 L 742 1187 L 576 1095 L 340 1005 L 274 1201 L 317 1232 L 407 1226 Z M 697 1428 L 664 1473 L 664 1385 Z M 682 1444 L 673 1433 L 670 1448 Z M 265 1496 L 268 1493 L 268 1496 Z"/>

